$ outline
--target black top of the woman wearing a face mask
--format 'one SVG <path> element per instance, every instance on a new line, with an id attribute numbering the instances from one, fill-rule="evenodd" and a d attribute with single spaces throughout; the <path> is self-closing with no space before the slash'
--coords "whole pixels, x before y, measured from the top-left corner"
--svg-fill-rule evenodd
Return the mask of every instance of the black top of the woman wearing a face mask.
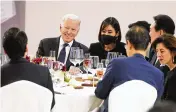
<path id="1" fill-rule="evenodd" d="M 89 52 L 92 56 L 99 56 L 100 61 L 101 59 L 106 59 L 108 53 L 104 50 L 103 45 L 100 42 L 90 44 Z M 125 43 L 117 42 L 116 47 L 109 52 L 119 52 L 126 55 Z"/>

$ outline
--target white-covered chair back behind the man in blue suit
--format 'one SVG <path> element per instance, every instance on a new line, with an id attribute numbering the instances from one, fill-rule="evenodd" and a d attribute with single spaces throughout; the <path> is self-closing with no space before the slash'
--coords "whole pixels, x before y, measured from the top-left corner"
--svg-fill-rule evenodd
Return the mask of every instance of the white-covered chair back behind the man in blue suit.
<path id="1" fill-rule="evenodd" d="M 157 98 L 156 89 L 141 80 L 115 87 L 109 95 L 109 112 L 147 112 Z"/>

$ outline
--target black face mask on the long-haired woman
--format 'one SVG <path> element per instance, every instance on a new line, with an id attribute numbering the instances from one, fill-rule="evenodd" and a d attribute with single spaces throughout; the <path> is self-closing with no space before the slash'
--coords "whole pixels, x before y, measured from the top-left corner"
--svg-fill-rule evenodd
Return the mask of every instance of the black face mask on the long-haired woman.
<path id="1" fill-rule="evenodd" d="M 117 40 L 116 36 L 101 35 L 101 37 L 100 37 L 100 42 L 105 45 L 108 45 L 111 43 L 116 43 L 116 40 Z"/>

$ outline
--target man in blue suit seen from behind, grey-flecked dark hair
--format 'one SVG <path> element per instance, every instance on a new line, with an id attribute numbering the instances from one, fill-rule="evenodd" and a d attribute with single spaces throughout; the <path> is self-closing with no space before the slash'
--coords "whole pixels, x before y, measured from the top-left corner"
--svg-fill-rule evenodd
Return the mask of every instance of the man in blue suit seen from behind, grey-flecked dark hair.
<path id="1" fill-rule="evenodd" d="M 163 73 L 145 60 L 145 50 L 150 42 L 146 29 L 134 26 L 126 34 L 127 58 L 110 61 L 103 79 L 97 84 L 95 95 L 104 99 L 101 112 L 108 111 L 108 96 L 111 90 L 126 81 L 142 80 L 157 90 L 157 97 L 163 94 Z M 130 92 L 129 92 L 130 94 Z"/>

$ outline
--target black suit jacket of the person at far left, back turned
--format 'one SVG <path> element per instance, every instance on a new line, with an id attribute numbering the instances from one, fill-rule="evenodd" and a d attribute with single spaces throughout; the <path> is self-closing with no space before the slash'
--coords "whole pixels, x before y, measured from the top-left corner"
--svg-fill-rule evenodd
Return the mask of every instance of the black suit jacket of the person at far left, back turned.
<path id="1" fill-rule="evenodd" d="M 11 60 L 1 66 L 1 86 L 19 80 L 28 80 L 48 88 L 53 93 L 52 108 L 55 104 L 53 83 L 47 67 L 28 62 L 24 58 Z"/>

